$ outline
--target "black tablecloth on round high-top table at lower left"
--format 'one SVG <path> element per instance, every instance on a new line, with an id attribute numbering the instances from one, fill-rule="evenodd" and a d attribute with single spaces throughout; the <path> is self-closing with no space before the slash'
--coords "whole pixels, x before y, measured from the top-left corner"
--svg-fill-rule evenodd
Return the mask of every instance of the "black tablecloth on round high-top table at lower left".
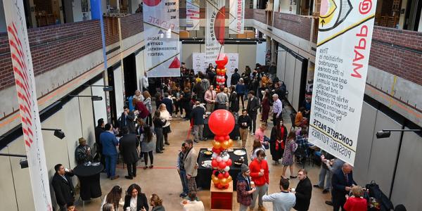
<path id="1" fill-rule="evenodd" d="M 101 196 L 100 173 L 104 169 L 103 165 L 85 166 L 78 165 L 73 170 L 73 174 L 79 178 L 80 196 L 82 200 L 90 200 Z"/>

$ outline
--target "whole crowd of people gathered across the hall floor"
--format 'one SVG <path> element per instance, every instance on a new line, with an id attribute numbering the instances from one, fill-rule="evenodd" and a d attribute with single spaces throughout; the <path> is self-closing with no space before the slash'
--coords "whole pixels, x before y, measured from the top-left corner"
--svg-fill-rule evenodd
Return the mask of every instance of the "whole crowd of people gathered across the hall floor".
<path id="1" fill-rule="evenodd" d="M 312 153 L 319 153 L 319 149 L 307 141 L 311 100 L 309 97 L 305 98 L 292 122 L 295 129 L 288 130 L 283 121 L 286 85 L 276 77 L 274 68 L 275 63 L 272 63 L 268 70 L 257 64 L 255 70 L 251 71 L 247 66 L 242 74 L 236 69 L 231 75 L 229 87 L 227 84 L 224 84 L 224 87 L 218 86 L 212 64 L 205 72 L 197 74 L 188 70 L 182 63 L 181 77 L 143 77 L 143 91 L 135 91 L 129 104 L 124 106 L 117 125 L 106 123 L 103 119 L 98 120 L 95 128 L 96 153 L 87 146 L 87 140 L 79 139 L 79 146 L 75 151 L 77 164 L 99 160 L 105 167 L 107 178 L 119 179 L 115 169 L 120 153 L 127 166 L 127 175 L 124 178 L 134 179 L 139 160 L 143 160 L 143 170 L 153 169 L 153 151 L 164 153 L 165 146 L 174 144 L 169 139 L 172 120 L 181 117 L 190 121 L 188 130 L 192 131 L 193 139 L 183 141 L 177 156 L 177 172 L 182 186 L 179 196 L 187 199 L 185 210 L 205 210 L 196 195 L 198 152 L 193 148 L 193 144 L 206 140 L 203 136 L 204 117 L 214 110 L 225 109 L 238 116 L 241 147 L 245 148 L 248 135 L 253 137 L 250 164 L 241 166 L 237 184 L 234 184 L 240 210 L 247 210 L 248 207 L 252 210 L 256 203 L 258 210 L 265 210 L 263 202 L 273 203 L 273 210 L 309 210 L 312 197 L 311 181 L 307 177 L 307 170 L 300 169 L 295 172 L 293 165 L 295 162 L 305 162 L 304 159 Z M 259 113 L 261 119 L 257 127 Z M 265 132 L 269 129 L 269 124 L 272 124 L 271 135 L 267 137 Z M 272 165 L 283 165 L 279 193 L 267 193 L 267 150 L 271 154 Z M 364 200 L 360 200 L 363 190 L 355 186 L 352 166 L 328 153 L 321 153 L 319 183 L 314 187 L 322 188 L 322 193 L 331 191 L 332 200 L 326 203 L 333 205 L 333 210 L 339 210 L 340 207 L 343 210 L 359 210 L 359 207 L 364 206 Z M 290 170 L 288 177 L 287 169 Z M 58 164 L 55 171 L 52 183 L 60 210 L 74 210 L 75 188 L 70 178 L 73 176 L 72 170 Z M 296 178 L 299 179 L 298 186 L 291 188 L 289 179 Z M 350 197 L 347 194 L 349 192 L 352 193 Z M 101 209 L 118 210 L 118 207 L 123 207 L 125 210 L 129 207 L 129 210 L 165 210 L 159 196 L 152 194 L 147 199 L 138 184 L 129 186 L 125 193 L 126 196 L 122 198 L 122 187 L 114 186 L 104 198 Z"/>

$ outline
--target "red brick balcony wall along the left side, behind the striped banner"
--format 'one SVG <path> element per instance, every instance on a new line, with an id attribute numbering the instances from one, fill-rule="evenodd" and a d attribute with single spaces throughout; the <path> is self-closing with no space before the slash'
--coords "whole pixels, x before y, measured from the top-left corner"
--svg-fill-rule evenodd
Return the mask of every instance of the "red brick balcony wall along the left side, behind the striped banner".
<path id="1" fill-rule="evenodd" d="M 105 18 L 106 44 L 119 41 L 117 18 Z M 122 38 L 143 31 L 142 14 L 123 17 Z M 98 20 L 28 29 L 34 74 L 58 68 L 72 60 L 101 49 Z M 7 34 L 0 34 L 0 90 L 14 85 Z"/>

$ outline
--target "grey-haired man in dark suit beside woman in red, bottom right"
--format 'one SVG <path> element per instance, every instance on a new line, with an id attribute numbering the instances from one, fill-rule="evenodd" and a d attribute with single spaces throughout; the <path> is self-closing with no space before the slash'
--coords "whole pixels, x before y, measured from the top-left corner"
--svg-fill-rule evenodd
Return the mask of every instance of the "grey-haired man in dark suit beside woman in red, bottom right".
<path id="1" fill-rule="evenodd" d="M 345 163 L 341 170 L 338 170 L 333 174 L 331 179 L 331 184 L 333 190 L 331 191 L 331 196 L 333 196 L 333 207 L 334 211 L 338 211 L 346 203 L 346 194 L 352 189 L 353 185 L 356 185 L 356 182 L 353 180 L 352 174 L 353 167 L 352 165 Z"/>

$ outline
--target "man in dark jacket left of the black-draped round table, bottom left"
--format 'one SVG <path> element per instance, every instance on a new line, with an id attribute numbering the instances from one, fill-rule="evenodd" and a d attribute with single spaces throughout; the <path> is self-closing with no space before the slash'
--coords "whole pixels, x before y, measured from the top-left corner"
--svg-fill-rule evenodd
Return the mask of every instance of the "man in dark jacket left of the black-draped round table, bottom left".
<path id="1" fill-rule="evenodd" d="M 75 188 L 73 188 L 72 170 L 65 170 L 63 165 L 58 164 L 54 166 L 56 173 L 51 179 L 51 185 L 53 186 L 54 193 L 56 194 L 57 204 L 60 206 L 60 211 L 67 210 L 67 205 L 75 201 Z"/>

